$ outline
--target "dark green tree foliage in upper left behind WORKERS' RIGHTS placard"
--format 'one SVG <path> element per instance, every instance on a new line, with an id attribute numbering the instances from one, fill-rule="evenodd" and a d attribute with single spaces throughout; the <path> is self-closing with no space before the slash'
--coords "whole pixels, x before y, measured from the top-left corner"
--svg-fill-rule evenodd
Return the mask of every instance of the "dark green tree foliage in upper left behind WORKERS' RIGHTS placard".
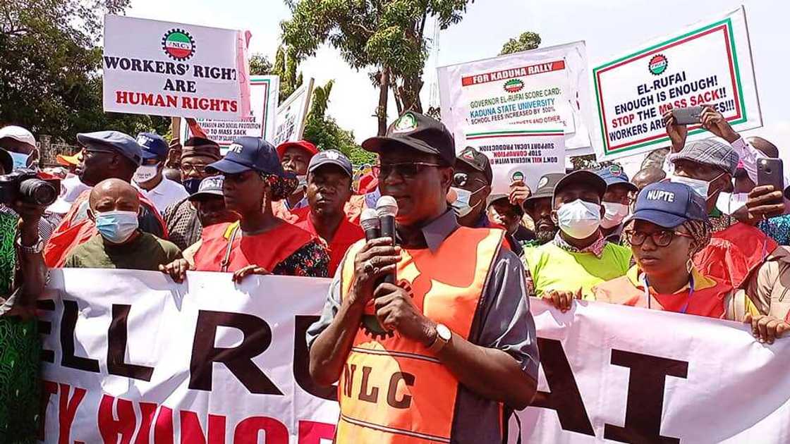
<path id="1" fill-rule="evenodd" d="M 0 125 L 72 142 L 77 133 L 167 133 L 169 119 L 104 113 L 104 13 L 129 0 L 0 0 Z"/>

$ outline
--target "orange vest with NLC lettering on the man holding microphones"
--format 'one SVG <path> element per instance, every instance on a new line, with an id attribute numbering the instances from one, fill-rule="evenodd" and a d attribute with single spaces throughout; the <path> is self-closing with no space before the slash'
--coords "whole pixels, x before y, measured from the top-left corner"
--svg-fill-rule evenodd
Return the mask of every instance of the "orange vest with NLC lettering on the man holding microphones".
<path id="1" fill-rule="evenodd" d="M 504 231 L 458 228 L 436 253 L 402 250 L 397 279 L 412 288 L 413 302 L 434 322 L 467 339 Z M 348 295 L 354 259 L 346 255 L 341 296 Z M 335 442 L 403 444 L 450 442 L 458 380 L 423 344 L 399 333 L 357 330 L 338 384 L 340 420 Z"/>

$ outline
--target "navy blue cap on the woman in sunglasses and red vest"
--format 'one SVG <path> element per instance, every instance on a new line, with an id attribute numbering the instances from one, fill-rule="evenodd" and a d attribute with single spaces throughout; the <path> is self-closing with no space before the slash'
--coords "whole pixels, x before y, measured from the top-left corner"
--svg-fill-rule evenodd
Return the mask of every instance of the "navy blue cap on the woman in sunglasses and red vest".
<path id="1" fill-rule="evenodd" d="M 269 142 L 258 137 L 248 136 L 239 137 L 233 141 L 228 146 L 225 156 L 205 169 L 209 173 L 219 171 L 224 174 L 239 174 L 253 170 L 284 178 L 294 177 L 285 173 L 276 149 Z"/>

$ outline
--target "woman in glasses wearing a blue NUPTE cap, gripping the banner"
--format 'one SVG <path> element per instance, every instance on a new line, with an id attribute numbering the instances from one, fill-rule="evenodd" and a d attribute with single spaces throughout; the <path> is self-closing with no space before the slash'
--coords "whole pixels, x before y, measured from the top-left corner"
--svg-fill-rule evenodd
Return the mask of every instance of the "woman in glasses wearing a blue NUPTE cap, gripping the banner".
<path id="1" fill-rule="evenodd" d="M 636 265 L 626 276 L 592 289 L 596 300 L 655 310 L 751 322 L 754 335 L 773 342 L 790 325 L 762 316 L 751 299 L 724 281 L 705 276 L 694 254 L 710 240 L 705 201 L 689 186 L 658 182 L 639 194 L 623 235 Z"/>

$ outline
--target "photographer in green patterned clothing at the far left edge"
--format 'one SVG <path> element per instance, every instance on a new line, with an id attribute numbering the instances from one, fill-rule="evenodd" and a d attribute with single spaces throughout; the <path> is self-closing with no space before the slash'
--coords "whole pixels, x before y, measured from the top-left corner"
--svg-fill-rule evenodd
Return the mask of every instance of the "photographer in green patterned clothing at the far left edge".
<path id="1" fill-rule="evenodd" d="M 36 189 L 48 184 L 24 174 L 9 178 L 13 166 L 11 154 L 0 149 L 0 442 L 32 442 L 40 414 L 41 347 L 34 314 L 47 276 L 40 235 L 47 203 L 34 202 L 19 189 L 32 189 L 35 197 Z"/>

